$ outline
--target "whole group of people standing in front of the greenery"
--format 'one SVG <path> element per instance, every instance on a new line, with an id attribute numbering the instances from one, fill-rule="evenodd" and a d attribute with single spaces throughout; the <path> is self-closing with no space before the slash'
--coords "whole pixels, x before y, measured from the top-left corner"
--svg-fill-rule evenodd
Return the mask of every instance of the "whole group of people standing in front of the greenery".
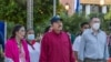
<path id="1" fill-rule="evenodd" d="M 2 45 L 4 62 L 111 62 L 111 35 L 101 30 L 98 17 L 80 24 L 75 40 L 63 31 L 62 21 L 59 16 L 52 17 L 39 39 L 33 29 L 17 24 Z"/>

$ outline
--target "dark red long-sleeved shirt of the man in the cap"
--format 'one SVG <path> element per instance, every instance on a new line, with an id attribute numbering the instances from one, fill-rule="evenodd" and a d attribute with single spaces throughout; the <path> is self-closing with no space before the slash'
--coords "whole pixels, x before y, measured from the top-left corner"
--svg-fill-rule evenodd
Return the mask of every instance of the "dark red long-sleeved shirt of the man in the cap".
<path id="1" fill-rule="evenodd" d="M 39 62 L 75 62 L 68 34 L 53 31 L 46 33 L 41 41 Z"/>

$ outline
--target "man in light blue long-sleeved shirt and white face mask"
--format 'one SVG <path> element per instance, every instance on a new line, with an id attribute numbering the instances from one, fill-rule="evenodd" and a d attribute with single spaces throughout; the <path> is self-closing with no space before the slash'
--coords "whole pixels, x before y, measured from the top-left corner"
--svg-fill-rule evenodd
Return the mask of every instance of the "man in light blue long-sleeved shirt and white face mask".
<path id="1" fill-rule="evenodd" d="M 93 17 L 90 29 L 82 33 L 79 59 L 80 62 L 107 62 L 109 59 L 107 34 L 100 29 L 101 20 Z"/>

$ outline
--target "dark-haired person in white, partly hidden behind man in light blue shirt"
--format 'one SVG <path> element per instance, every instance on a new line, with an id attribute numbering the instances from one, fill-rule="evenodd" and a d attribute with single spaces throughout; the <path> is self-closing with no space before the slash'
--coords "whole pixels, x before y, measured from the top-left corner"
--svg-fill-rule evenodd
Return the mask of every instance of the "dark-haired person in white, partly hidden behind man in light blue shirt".
<path id="1" fill-rule="evenodd" d="M 72 45 L 72 49 L 73 49 L 73 52 L 74 52 L 74 55 L 75 55 L 75 59 L 78 61 L 78 52 L 79 52 L 79 48 L 80 48 L 80 42 L 82 41 L 81 40 L 81 35 L 82 35 L 82 32 L 84 30 L 89 29 L 89 23 L 88 22 L 82 22 L 80 24 L 80 30 L 81 30 L 81 34 L 79 34 L 75 40 L 74 40 L 74 43 Z"/>

